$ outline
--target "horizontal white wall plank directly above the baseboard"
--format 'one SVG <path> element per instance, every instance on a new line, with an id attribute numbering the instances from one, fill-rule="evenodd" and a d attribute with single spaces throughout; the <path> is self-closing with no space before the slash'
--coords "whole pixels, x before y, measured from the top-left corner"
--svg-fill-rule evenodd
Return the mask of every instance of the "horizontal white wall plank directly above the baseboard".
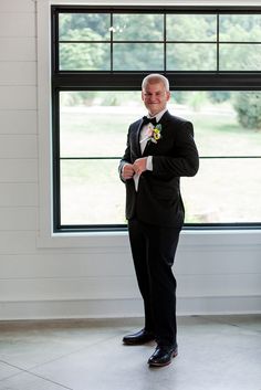
<path id="1" fill-rule="evenodd" d="M 222 291 L 220 291 L 222 285 Z M 181 276 L 178 297 L 261 295 L 260 275 Z M 0 296 L 7 301 L 34 299 L 116 299 L 138 298 L 135 278 L 130 276 L 98 276 L 76 278 L 11 278 L 1 280 Z"/>

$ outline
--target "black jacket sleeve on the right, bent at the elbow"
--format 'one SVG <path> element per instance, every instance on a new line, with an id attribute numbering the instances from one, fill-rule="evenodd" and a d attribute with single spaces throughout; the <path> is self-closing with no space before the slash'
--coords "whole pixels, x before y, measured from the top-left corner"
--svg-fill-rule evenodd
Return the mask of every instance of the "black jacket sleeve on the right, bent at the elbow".
<path id="1" fill-rule="evenodd" d="M 170 156 L 153 157 L 153 175 L 157 177 L 192 177 L 199 168 L 198 150 L 194 140 L 194 127 L 184 122 L 176 134 Z"/>

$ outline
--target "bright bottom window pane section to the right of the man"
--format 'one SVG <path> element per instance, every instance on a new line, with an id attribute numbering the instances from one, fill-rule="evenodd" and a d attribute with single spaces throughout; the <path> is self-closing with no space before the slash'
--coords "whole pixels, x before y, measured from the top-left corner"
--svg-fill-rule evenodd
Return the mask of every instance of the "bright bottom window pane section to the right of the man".
<path id="1" fill-rule="evenodd" d="M 201 160 L 181 189 L 188 223 L 261 221 L 261 159 Z"/>

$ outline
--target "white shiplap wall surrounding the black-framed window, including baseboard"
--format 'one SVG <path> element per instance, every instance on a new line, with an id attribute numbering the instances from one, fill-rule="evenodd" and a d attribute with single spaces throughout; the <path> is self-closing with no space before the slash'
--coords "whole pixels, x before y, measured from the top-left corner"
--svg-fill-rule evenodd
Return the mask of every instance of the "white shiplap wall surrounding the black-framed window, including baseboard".
<path id="1" fill-rule="evenodd" d="M 126 235 L 39 240 L 35 10 L 0 2 L 0 319 L 140 315 Z M 261 312 L 260 232 L 184 233 L 176 273 L 180 314 Z"/>

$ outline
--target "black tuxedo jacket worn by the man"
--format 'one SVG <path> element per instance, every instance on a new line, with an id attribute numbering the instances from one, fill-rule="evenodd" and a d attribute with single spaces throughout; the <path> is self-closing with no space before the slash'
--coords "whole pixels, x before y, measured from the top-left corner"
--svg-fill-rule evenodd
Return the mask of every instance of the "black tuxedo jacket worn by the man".
<path id="1" fill-rule="evenodd" d="M 134 180 L 126 185 L 126 219 L 138 220 L 161 226 L 181 228 L 185 210 L 180 194 L 180 177 L 195 176 L 199 157 L 194 141 L 192 124 L 166 112 L 161 119 L 161 138 L 154 144 L 148 140 L 142 155 L 139 133 L 143 119 L 128 128 L 127 147 L 119 162 L 133 164 L 137 158 L 153 156 L 153 171 L 146 170 L 139 177 L 138 191 Z"/>

